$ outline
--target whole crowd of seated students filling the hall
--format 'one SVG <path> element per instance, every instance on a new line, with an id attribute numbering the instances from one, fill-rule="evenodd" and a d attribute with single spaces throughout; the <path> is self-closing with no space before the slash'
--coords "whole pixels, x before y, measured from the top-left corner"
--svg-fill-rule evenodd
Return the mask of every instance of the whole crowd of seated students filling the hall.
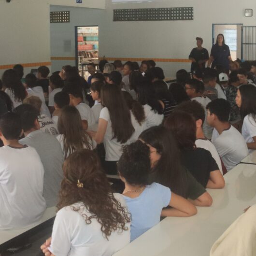
<path id="1" fill-rule="evenodd" d="M 211 206 L 205 188 L 256 149 L 256 61 L 236 64 L 180 70 L 171 85 L 153 60 L 90 63 L 87 81 L 71 66 L 4 71 L 0 229 L 57 205 L 45 255 L 112 255 L 160 216 Z"/>

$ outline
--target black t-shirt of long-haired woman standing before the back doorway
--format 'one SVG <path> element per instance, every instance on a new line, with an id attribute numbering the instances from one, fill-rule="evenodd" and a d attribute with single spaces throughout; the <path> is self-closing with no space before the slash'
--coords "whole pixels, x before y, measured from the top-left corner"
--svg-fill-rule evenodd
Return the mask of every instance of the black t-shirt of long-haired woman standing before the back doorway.
<path id="1" fill-rule="evenodd" d="M 226 70 L 229 70 L 228 57 L 230 56 L 230 51 L 227 44 L 224 44 L 222 46 L 214 44 L 211 50 L 211 56 L 213 56 L 212 68 L 216 67 L 216 65 L 221 65 Z"/>

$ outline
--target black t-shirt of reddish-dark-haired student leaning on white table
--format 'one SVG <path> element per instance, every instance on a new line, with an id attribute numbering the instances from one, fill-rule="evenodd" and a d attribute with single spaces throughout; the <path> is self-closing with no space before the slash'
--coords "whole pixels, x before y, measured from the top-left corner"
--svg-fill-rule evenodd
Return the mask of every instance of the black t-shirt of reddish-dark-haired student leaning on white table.
<path id="1" fill-rule="evenodd" d="M 207 185 L 210 172 L 219 170 L 211 153 L 204 148 L 183 150 L 181 152 L 181 163 L 203 187 Z"/>

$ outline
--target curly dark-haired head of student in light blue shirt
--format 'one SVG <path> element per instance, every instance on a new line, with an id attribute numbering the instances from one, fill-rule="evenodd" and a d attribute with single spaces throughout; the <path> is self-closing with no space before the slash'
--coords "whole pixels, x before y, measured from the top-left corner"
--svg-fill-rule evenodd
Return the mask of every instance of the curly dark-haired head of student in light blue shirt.
<path id="1" fill-rule="evenodd" d="M 136 141 L 123 147 L 117 170 L 121 180 L 129 185 L 147 185 L 150 172 L 150 149 Z"/>

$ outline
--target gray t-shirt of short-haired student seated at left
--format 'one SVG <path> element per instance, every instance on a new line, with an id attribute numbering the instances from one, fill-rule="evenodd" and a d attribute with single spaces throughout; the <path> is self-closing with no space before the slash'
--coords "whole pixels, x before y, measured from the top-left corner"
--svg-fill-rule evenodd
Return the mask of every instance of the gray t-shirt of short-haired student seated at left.
<path id="1" fill-rule="evenodd" d="M 47 207 L 57 204 L 60 182 L 63 178 L 62 164 L 64 157 L 56 137 L 42 130 L 32 131 L 19 141 L 36 149 L 44 168 L 43 197 Z"/>

